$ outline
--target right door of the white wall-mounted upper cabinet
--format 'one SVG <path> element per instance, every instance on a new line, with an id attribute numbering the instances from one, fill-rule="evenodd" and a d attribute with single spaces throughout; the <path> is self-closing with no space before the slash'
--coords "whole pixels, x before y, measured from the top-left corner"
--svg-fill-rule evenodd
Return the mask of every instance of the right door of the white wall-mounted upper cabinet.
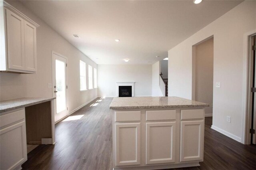
<path id="1" fill-rule="evenodd" d="M 25 69 L 36 71 L 36 27 L 24 21 Z"/>

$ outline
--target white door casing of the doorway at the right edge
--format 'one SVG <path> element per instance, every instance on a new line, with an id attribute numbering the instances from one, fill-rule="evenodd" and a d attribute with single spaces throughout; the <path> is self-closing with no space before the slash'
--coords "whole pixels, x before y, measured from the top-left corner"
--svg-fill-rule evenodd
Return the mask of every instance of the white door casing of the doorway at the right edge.
<path id="1" fill-rule="evenodd" d="M 252 122 L 252 103 L 250 98 L 250 77 L 251 75 L 251 37 L 256 35 L 256 29 L 244 34 L 244 56 L 243 56 L 243 97 L 242 97 L 242 144 L 251 143 L 251 122 Z"/>

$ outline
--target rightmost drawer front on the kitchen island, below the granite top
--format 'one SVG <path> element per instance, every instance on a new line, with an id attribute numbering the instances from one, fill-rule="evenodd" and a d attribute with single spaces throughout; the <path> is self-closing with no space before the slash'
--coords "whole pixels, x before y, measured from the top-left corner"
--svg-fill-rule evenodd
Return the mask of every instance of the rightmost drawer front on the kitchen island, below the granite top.
<path id="1" fill-rule="evenodd" d="M 181 120 L 184 119 L 203 119 L 204 118 L 204 109 L 187 109 L 181 110 Z"/>

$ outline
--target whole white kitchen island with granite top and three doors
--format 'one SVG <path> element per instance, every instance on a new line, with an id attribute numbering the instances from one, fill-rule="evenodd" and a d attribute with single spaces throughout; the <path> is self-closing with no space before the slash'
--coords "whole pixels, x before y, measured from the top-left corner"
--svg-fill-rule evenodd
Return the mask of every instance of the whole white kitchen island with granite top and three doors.
<path id="1" fill-rule="evenodd" d="M 110 104 L 114 169 L 200 166 L 205 107 L 180 97 L 115 97 Z"/>

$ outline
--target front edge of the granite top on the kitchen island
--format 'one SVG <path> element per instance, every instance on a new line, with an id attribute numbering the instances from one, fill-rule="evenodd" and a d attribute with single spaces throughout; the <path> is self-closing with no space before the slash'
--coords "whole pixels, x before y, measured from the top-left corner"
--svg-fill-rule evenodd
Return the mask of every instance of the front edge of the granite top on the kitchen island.
<path id="1" fill-rule="evenodd" d="M 168 108 L 201 108 L 210 105 L 171 105 L 171 106 L 110 106 L 110 109 L 168 109 Z"/>

